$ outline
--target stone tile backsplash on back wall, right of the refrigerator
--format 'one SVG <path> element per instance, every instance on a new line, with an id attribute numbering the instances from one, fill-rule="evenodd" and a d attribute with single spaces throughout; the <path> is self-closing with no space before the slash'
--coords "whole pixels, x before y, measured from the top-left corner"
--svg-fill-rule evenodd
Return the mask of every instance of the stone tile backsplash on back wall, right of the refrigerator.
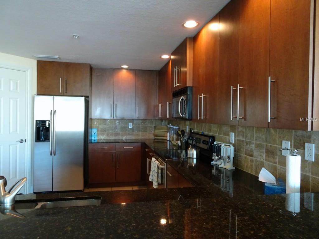
<path id="1" fill-rule="evenodd" d="M 167 125 L 167 120 L 90 119 L 89 123 L 98 129 L 98 139 L 152 139 L 154 126 Z"/>

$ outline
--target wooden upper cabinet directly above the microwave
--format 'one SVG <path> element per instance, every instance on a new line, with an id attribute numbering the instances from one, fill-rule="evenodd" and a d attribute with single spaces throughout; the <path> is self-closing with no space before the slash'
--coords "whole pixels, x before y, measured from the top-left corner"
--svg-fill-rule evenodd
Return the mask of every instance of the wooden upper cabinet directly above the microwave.
<path id="1" fill-rule="evenodd" d="M 187 37 L 172 52 L 171 91 L 193 85 L 193 38 Z"/>

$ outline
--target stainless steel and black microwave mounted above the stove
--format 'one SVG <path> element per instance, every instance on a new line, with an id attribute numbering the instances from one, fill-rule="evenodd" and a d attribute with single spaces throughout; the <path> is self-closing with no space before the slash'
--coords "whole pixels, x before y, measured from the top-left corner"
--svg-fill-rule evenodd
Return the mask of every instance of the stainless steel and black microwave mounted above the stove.
<path id="1" fill-rule="evenodd" d="M 173 118 L 192 119 L 192 87 L 173 92 Z"/>

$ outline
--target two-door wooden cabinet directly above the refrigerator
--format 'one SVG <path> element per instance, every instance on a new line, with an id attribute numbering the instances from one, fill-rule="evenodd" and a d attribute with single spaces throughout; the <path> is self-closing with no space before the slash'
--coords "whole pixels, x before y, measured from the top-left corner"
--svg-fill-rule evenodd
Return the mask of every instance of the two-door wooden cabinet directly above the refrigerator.
<path id="1" fill-rule="evenodd" d="M 37 94 L 88 96 L 91 65 L 37 61 Z"/>

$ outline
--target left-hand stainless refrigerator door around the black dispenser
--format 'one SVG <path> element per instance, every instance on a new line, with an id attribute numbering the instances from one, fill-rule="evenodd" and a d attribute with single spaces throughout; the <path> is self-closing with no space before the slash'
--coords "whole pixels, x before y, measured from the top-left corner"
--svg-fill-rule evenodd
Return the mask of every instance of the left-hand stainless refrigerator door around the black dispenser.
<path id="1" fill-rule="evenodd" d="M 33 139 L 36 138 L 35 121 L 51 120 L 51 111 L 53 111 L 53 96 L 34 96 Z M 50 125 L 52 125 L 52 121 L 50 122 Z M 52 147 L 52 141 L 34 142 L 33 192 L 52 191 L 53 156 L 50 155 L 50 145 Z"/>

